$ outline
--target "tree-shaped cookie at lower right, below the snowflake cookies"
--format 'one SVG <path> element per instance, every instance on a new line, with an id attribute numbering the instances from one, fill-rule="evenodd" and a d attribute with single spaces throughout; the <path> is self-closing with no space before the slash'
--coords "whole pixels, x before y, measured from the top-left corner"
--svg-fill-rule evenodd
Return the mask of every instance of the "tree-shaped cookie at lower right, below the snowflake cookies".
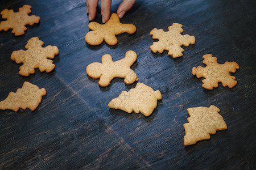
<path id="1" fill-rule="evenodd" d="M 210 134 L 215 134 L 216 130 L 226 129 L 226 123 L 218 113 L 220 109 L 211 105 L 209 108 L 198 107 L 187 109 L 187 124 L 184 124 L 185 136 L 184 145 L 193 145 L 197 141 L 210 139 Z"/>

